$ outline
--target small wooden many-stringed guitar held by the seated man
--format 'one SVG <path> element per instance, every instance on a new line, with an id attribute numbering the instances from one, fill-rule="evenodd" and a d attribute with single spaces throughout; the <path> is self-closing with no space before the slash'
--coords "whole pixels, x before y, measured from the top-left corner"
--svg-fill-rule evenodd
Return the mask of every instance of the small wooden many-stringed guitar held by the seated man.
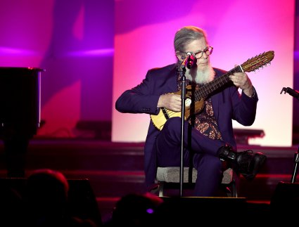
<path id="1" fill-rule="evenodd" d="M 242 65 L 238 65 L 234 67 L 234 69 L 229 70 L 226 74 L 223 74 L 221 77 L 216 77 L 212 82 L 204 84 L 200 87 L 200 89 L 196 89 L 193 91 L 191 85 L 186 86 L 186 100 L 185 100 L 185 119 L 189 119 L 191 115 L 195 115 L 198 112 L 203 110 L 205 99 L 210 95 L 213 91 L 220 89 L 225 84 L 231 82 L 229 79 L 229 75 L 234 74 L 234 72 L 251 72 L 257 70 L 258 68 L 267 65 L 274 58 L 274 51 L 267 51 L 261 53 L 259 56 L 255 56 L 254 58 L 248 59 Z M 181 91 L 174 92 L 176 94 L 181 94 Z M 193 100 L 191 101 L 191 95 L 193 96 Z M 191 107 L 191 103 L 194 103 Z M 171 117 L 181 117 L 181 112 L 174 112 L 172 110 L 167 110 L 166 108 L 160 108 L 160 112 L 158 115 L 151 115 L 151 120 L 155 127 L 159 130 L 163 129 L 163 126 L 167 119 Z"/>

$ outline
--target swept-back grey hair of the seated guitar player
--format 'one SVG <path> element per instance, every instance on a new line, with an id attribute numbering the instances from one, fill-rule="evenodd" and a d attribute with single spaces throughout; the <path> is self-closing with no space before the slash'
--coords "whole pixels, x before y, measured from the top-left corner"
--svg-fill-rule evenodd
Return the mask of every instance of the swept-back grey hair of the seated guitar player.
<path id="1" fill-rule="evenodd" d="M 179 29 L 174 36 L 174 51 L 185 52 L 185 46 L 196 39 L 205 38 L 208 44 L 205 31 L 195 26 L 185 26 Z"/>

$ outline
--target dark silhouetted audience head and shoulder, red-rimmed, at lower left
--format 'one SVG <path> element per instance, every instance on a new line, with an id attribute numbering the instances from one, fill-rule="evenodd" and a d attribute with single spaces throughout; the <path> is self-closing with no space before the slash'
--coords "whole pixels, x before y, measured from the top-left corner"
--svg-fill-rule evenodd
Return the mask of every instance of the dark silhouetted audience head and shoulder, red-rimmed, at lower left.
<path id="1" fill-rule="evenodd" d="M 69 183 L 60 171 L 37 169 L 27 178 L 27 226 L 90 226 L 98 223 L 68 213 Z"/>

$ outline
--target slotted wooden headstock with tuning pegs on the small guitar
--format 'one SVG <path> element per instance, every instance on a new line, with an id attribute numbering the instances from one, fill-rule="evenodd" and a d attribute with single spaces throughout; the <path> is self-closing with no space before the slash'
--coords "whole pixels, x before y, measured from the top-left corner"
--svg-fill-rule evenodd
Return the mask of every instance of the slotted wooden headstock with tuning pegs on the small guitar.
<path id="1" fill-rule="evenodd" d="M 261 53 L 258 56 L 246 60 L 246 62 L 243 63 L 241 67 L 244 72 L 251 72 L 257 70 L 258 68 L 264 65 L 267 65 L 272 61 L 273 58 L 274 58 L 274 51 L 267 51 Z"/>

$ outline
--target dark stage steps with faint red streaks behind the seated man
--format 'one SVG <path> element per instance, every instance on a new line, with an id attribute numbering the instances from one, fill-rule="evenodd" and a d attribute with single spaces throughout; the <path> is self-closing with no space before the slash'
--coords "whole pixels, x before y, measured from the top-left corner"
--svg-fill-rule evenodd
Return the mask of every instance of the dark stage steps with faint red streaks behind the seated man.
<path id="1" fill-rule="evenodd" d="M 110 218 L 115 202 L 128 193 L 146 193 L 144 143 L 113 143 L 94 139 L 32 139 L 27 150 L 26 171 L 56 169 L 72 180 L 88 179 L 103 221 Z M 240 179 L 239 197 L 250 205 L 268 209 L 279 182 L 290 183 L 298 146 L 262 147 L 238 145 L 239 151 L 267 155 L 267 162 L 253 181 Z M 4 145 L 0 142 L 0 177 L 6 178 Z M 298 181 L 298 177 L 295 177 Z M 179 192 L 178 194 L 179 195 Z M 262 208 L 263 207 L 263 208 Z"/>

